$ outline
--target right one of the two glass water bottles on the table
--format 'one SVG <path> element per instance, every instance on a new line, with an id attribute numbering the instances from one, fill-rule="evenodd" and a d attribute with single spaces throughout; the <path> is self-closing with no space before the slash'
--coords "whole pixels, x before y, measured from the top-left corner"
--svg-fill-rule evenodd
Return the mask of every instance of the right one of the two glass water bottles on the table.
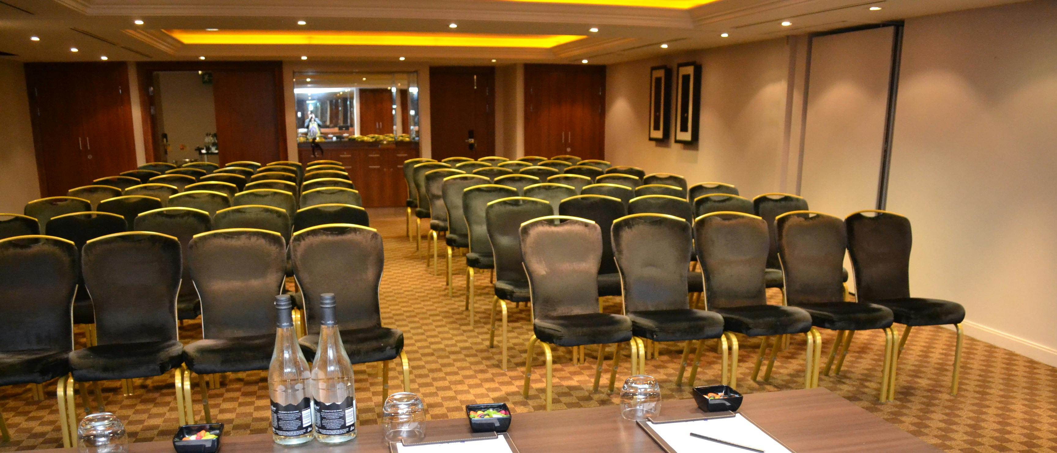
<path id="1" fill-rule="evenodd" d="M 352 364 L 341 344 L 341 334 L 334 320 L 334 306 L 333 294 L 320 296 L 319 345 L 312 363 L 316 439 L 326 443 L 339 443 L 356 437 Z"/>

